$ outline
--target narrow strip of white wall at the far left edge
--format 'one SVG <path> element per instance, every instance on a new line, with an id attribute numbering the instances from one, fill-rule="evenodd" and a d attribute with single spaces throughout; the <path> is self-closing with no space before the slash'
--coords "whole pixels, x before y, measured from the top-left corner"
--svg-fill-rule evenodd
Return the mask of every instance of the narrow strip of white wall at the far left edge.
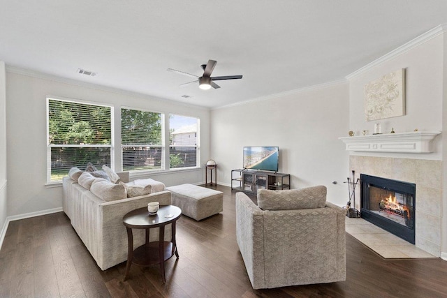
<path id="1" fill-rule="evenodd" d="M 0 247 L 6 227 L 6 73 L 5 63 L 0 61 Z"/>

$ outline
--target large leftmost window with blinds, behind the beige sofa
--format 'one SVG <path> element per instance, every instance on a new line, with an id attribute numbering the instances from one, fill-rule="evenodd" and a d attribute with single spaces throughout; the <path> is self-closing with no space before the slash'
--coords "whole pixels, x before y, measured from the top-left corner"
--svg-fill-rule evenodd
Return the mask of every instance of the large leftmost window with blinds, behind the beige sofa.
<path id="1" fill-rule="evenodd" d="M 112 123 L 112 107 L 47 98 L 47 181 L 87 163 L 110 166 Z"/>

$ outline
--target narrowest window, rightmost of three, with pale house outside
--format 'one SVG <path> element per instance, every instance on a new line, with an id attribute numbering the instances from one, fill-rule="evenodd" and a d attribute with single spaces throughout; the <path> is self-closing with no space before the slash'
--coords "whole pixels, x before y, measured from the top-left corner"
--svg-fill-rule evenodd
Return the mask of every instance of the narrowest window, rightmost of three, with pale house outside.
<path id="1" fill-rule="evenodd" d="M 171 114 L 169 117 L 170 169 L 198 166 L 199 119 Z"/>

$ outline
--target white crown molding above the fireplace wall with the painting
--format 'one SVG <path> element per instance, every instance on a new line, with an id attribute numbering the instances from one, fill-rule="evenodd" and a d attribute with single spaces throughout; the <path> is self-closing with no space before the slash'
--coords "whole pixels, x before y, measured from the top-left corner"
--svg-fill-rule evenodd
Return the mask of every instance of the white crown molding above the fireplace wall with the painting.
<path id="1" fill-rule="evenodd" d="M 383 62 L 390 61 L 391 59 L 394 59 L 397 56 L 400 56 L 401 54 L 404 54 L 408 52 L 409 50 L 413 49 L 414 47 L 418 47 L 419 45 L 422 45 L 423 43 L 426 43 L 429 40 L 432 40 L 433 38 L 440 36 L 441 34 L 445 33 L 447 31 L 447 23 L 446 24 L 440 24 L 437 27 L 434 27 L 433 29 L 430 29 L 429 31 L 421 34 L 420 36 L 413 38 L 408 43 L 405 43 L 404 45 L 401 45 L 400 47 L 397 47 L 397 49 L 389 52 L 388 54 L 383 55 L 379 59 L 376 59 L 372 61 L 371 63 L 363 66 L 362 68 L 354 71 L 353 73 L 346 75 L 346 80 L 352 80 L 363 73 L 366 73 L 368 70 L 378 66 L 379 64 L 382 64 Z"/>

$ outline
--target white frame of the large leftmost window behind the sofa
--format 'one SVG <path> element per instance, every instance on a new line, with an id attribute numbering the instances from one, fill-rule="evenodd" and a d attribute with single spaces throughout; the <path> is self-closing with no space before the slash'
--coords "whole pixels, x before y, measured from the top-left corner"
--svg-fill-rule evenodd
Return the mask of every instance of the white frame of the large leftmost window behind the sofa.
<path id="1" fill-rule="evenodd" d="M 108 107 L 110 108 L 110 144 L 51 144 L 50 143 L 50 100 L 64 101 L 68 103 L 77 103 L 82 105 L 95 105 L 98 107 Z M 46 184 L 48 186 L 54 184 L 61 184 L 62 179 L 60 180 L 52 180 L 51 172 L 52 172 L 52 161 L 51 161 L 51 149 L 52 148 L 110 148 L 110 167 L 112 170 L 115 170 L 115 119 L 114 119 L 114 107 L 113 105 L 106 103 L 96 103 L 94 101 L 89 100 L 80 100 L 76 98 L 64 98 L 61 96 L 47 96 L 45 99 L 46 104 L 46 147 L 47 147 L 47 165 L 46 165 Z"/>

